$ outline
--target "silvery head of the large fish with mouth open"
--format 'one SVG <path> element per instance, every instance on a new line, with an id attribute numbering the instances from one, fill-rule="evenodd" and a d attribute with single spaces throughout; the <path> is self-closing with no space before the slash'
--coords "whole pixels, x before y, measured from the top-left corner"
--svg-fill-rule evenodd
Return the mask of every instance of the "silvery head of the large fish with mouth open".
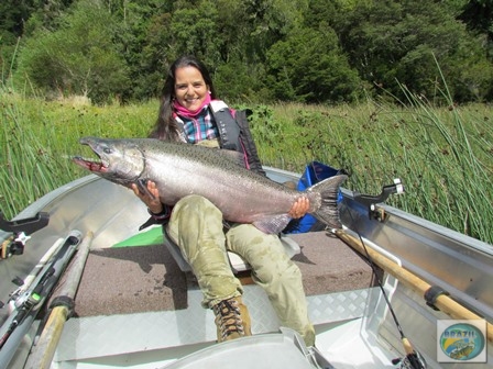
<path id="1" fill-rule="evenodd" d="M 88 145 L 98 158 L 76 156 L 74 163 L 112 182 L 130 187 L 145 169 L 144 153 L 134 139 L 83 137 L 79 143 Z"/>

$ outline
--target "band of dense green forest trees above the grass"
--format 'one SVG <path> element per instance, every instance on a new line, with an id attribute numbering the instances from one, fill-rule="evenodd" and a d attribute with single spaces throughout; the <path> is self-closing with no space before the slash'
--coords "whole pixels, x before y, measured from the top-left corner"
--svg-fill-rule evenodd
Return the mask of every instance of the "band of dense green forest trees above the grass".
<path id="1" fill-rule="evenodd" d="M 491 0 L 9 0 L 0 10 L 3 80 L 17 69 L 17 83 L 48 97 L 155 98 L 186 53 L 234 101 L 404 99 L 403 85 L 447 103 L 435 59 L 454 101 L 493 99 Z"/>

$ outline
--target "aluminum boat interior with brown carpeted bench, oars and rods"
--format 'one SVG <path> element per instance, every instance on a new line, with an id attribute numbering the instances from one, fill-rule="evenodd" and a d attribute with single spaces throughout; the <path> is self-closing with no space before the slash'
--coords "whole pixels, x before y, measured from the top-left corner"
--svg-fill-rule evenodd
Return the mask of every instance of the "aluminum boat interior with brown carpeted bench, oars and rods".
<path id="1" fill-rule="evenodd" d="M 253 335 L 218 344 L 179 251 L 139 231 L 133 192 L 67 183 L 1 219 L 0 368 L 491 368 L 493 246 L 386 205 L 398 186 L 342 189 L 342 230 L 281 235 L 304 276 L 306 347 L 231 253 Z"/>

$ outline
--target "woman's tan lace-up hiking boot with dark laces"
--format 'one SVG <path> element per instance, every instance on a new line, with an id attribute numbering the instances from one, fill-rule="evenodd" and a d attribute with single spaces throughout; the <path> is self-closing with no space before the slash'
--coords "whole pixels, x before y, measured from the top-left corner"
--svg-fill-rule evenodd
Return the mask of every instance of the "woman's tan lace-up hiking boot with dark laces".
<path id="1" fill-rule="evenodd" d="M 250 314 L 241 297 L 222 300 L 212 306 L 212 311 L 219 343 L 252 335 Z"/>

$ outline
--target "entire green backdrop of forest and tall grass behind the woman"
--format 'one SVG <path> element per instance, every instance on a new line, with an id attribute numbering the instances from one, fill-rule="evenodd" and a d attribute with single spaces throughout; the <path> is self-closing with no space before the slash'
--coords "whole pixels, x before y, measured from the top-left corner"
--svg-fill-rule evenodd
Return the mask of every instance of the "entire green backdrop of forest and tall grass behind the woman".
<path id="1" fill-rule="evenodd" d="M 84 135 L 145 136 L 169 64 L 194 54 L 250 108 L 264 164 L 493 244 L 493 0 L 3 0 L 0 210 L 81 177 Z"/>

